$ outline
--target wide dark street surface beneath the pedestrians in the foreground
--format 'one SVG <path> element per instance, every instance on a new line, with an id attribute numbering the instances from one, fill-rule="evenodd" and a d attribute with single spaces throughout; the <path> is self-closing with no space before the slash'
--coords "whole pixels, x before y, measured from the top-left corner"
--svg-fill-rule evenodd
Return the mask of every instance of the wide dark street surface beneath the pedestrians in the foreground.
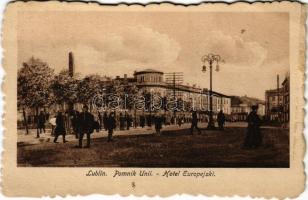
<path id="1" fill-rule="evenodd" d="M 190 124 L 163 127 L 160 136 L 154 128 L 115 131 L 107 142 L 107 132 L 94 132 L 90 149 L 78 149 L 78 140 L 67 135 L 68 143 L 53 143 L 50 130 L 35 138 L 32 130 L 18 132 L 18 165 L 46 167 L 288 167 L 289 131 L 262 127 L 263 145 L 245 150 L 246 123 L 227 124 L 224 131 L 202 130 L 189 135 Z M 205 128 L 206 124 L 200 124 Z M 85 144 L 84 140 L 84 144 Z"/>

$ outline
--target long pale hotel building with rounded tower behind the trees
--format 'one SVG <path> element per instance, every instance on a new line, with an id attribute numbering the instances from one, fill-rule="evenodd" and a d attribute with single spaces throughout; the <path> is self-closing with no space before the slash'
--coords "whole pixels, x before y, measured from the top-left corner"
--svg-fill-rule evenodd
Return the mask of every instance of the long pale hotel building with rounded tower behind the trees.
<path id="1" fill-rule="evenodd" d="M 209 91 L 201 89 L 196 85 L 170 85 L 164 80 L 164 73 L 154 69 L 145 69 L 135 71 L 134 77 L 124 78 L 117 76 L 114 81 L 120 81 L 127 84 L 135 84 L 141 94 L 149 93 L 159 95 L 160 97 L 182 100 L 189 107 L 193 107 L 199 111 L 210 110 Z M 231 114 L 231 99 L 229 96 L 213 91 L 213 112 L 218 113 L 221 109 L 225 114 Z M 186 110 L 190 111 L 190 110 Z"/>

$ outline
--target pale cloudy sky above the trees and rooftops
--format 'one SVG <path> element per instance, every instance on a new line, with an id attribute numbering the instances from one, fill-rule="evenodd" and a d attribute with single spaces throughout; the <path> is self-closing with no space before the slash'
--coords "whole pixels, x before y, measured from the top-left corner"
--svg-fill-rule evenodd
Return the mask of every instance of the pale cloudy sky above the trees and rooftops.
<path id="1" fill-rule="evenodd" d="M 201 57 L 214 53 L 225 60 L 215 91 L 264 99 L 289 69 L 288 20 L 284 13 L 23 12 L 18 62 L 34 56 L 59 72 L 72 51 L 82 75 L 153 68 L 182 71 L 185 83 L 208 88 Z"/>

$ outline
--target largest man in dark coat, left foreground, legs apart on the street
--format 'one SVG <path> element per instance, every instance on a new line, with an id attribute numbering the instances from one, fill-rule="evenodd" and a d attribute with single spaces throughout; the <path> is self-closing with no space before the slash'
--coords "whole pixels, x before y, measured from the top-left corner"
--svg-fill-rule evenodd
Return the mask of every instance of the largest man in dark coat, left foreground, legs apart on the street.
<path id="1" fill-rule="evenodd" d="M 82 140 L 84 134 L 87 135 L 87 145 L 86 148 L 90 148 L 91 143 L 91 133 L 94 131 L 94 116 L 88 111 L 89 108 L 87 105 L 84 105 L 82 108 L 82 113 L 79 115 L 79 148 L 82 148 Z"/>

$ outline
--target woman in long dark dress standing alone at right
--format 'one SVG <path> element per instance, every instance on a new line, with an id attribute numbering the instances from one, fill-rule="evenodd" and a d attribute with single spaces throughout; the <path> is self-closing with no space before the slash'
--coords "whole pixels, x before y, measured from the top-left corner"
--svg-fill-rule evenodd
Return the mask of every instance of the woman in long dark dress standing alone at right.
<path id="1" fill-rule="evenodd" d="M 262 144 L 262 135 L 260 131 L 261 120 L 257 114 L 258 106 L 253 105 L 251 112 L 247 116 L 247 131 L 244 142 L 244 148 L 251 149 L 257 148 Z"/>

